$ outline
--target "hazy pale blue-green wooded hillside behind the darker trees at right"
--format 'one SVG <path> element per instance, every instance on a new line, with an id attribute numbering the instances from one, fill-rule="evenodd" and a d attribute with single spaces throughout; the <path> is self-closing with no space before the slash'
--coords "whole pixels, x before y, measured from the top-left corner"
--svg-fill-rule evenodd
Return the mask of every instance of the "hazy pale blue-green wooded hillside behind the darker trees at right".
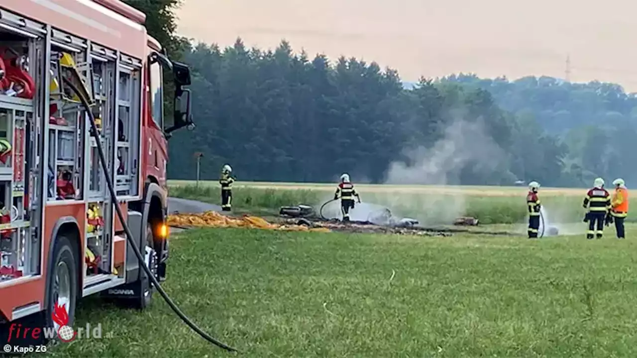
<path id="1" fill-rule="evenodd" d="M 501 108 L 533 122 L 560 143 L 560 185 L 590 185 L 597 176 L 637 181 L 630 159 L 637 150 L 637 94 L 620 85 L 569 83 L 548 76 L 510 81 L 457 75 L 441 82 L 488 90 Z"/>

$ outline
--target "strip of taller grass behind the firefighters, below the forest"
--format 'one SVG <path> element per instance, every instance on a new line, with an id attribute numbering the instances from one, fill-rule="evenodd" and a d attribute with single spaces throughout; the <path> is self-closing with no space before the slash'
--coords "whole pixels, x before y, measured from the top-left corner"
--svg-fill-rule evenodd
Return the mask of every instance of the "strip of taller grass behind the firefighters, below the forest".
<path id="1" fill-rule="evenodd" d="M 478 196 L 470 194 L 431 194 L 427 192 L 364 192 L 365 203 L 389 208 L 394 215 L 413 217 L 424 223 L 452 222 L 461 216 L 475 217 L 482 224 L 517 224 L 527 220 L 526 198 L 520 196 Z M 171 185 L 171 196 L 220 204 L 220 188 L 211 185 Z M 461 191 L 460 191 L 461 193 Z M 320 207 L 333 193 L 319 189 L 271 189 L 239 186 L 233 189 L 233 209 L 242 212 L 275 213 L 281 206 L 308 204 Z M 541 196 L 550 222 L 581 222 L 582 197 L 567 195 Z M 335 207 L 338 207 L 338 204 Z M 628 219 L 631 221 L 631 218 Z"/>

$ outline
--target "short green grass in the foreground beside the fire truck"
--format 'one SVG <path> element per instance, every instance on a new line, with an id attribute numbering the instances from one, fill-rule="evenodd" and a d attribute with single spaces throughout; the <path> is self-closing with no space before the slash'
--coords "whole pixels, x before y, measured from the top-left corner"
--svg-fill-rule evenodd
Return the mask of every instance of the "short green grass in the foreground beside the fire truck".
<path id="1" fill-rule="evenodd" d="M 629 235 L 631 236 L 631 235 Z M 171 242 L 176 303 L 243 357 L 636 357 L 634 240 L 199 229 Z M 114 337 L 54 357 L 227 357 L 158 295 L 85 301 Z"/>

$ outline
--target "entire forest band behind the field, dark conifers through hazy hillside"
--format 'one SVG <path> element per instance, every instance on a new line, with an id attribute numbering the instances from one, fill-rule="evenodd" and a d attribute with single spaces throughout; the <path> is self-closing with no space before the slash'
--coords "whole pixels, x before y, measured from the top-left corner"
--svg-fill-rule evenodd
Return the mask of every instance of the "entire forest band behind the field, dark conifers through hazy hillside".
<path id="1" fill-rule="evenodd" d="M 141 0 L 129 0 L 140 6 Z M 216 179 L 231 164 L 239 180 L 547 186 L 637 180 L 637 98 L 612 83 L 550 77 L 422 78 L 405 88 L 375 62 L 194 43 L 173 35 L 162 0 L 143 10 L 149 32 L 193 69 L 194 131 L 169 140 L 168 176 Z M 167 15 L 168 14 L 168 15 Z"/>

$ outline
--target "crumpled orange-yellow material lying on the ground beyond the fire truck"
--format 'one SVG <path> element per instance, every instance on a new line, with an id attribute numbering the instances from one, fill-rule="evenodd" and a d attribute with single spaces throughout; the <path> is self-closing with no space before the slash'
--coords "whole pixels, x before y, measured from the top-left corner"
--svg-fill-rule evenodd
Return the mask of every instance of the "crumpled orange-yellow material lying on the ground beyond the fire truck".
<path id="1" fill-rule="evenodd" d="M 260 217 L 245 215 L 241 218 L 227 217 L 217 211 L 206 211 L 201 214 L 168 215 L 168 225 L 177 227 L 245 227 L 247 229 L 269 229 L 280 231 L 314 231 L 329 233 L 326 227 L 307 227 L 302 225 L 279 225 L 267 222 Z"/>

